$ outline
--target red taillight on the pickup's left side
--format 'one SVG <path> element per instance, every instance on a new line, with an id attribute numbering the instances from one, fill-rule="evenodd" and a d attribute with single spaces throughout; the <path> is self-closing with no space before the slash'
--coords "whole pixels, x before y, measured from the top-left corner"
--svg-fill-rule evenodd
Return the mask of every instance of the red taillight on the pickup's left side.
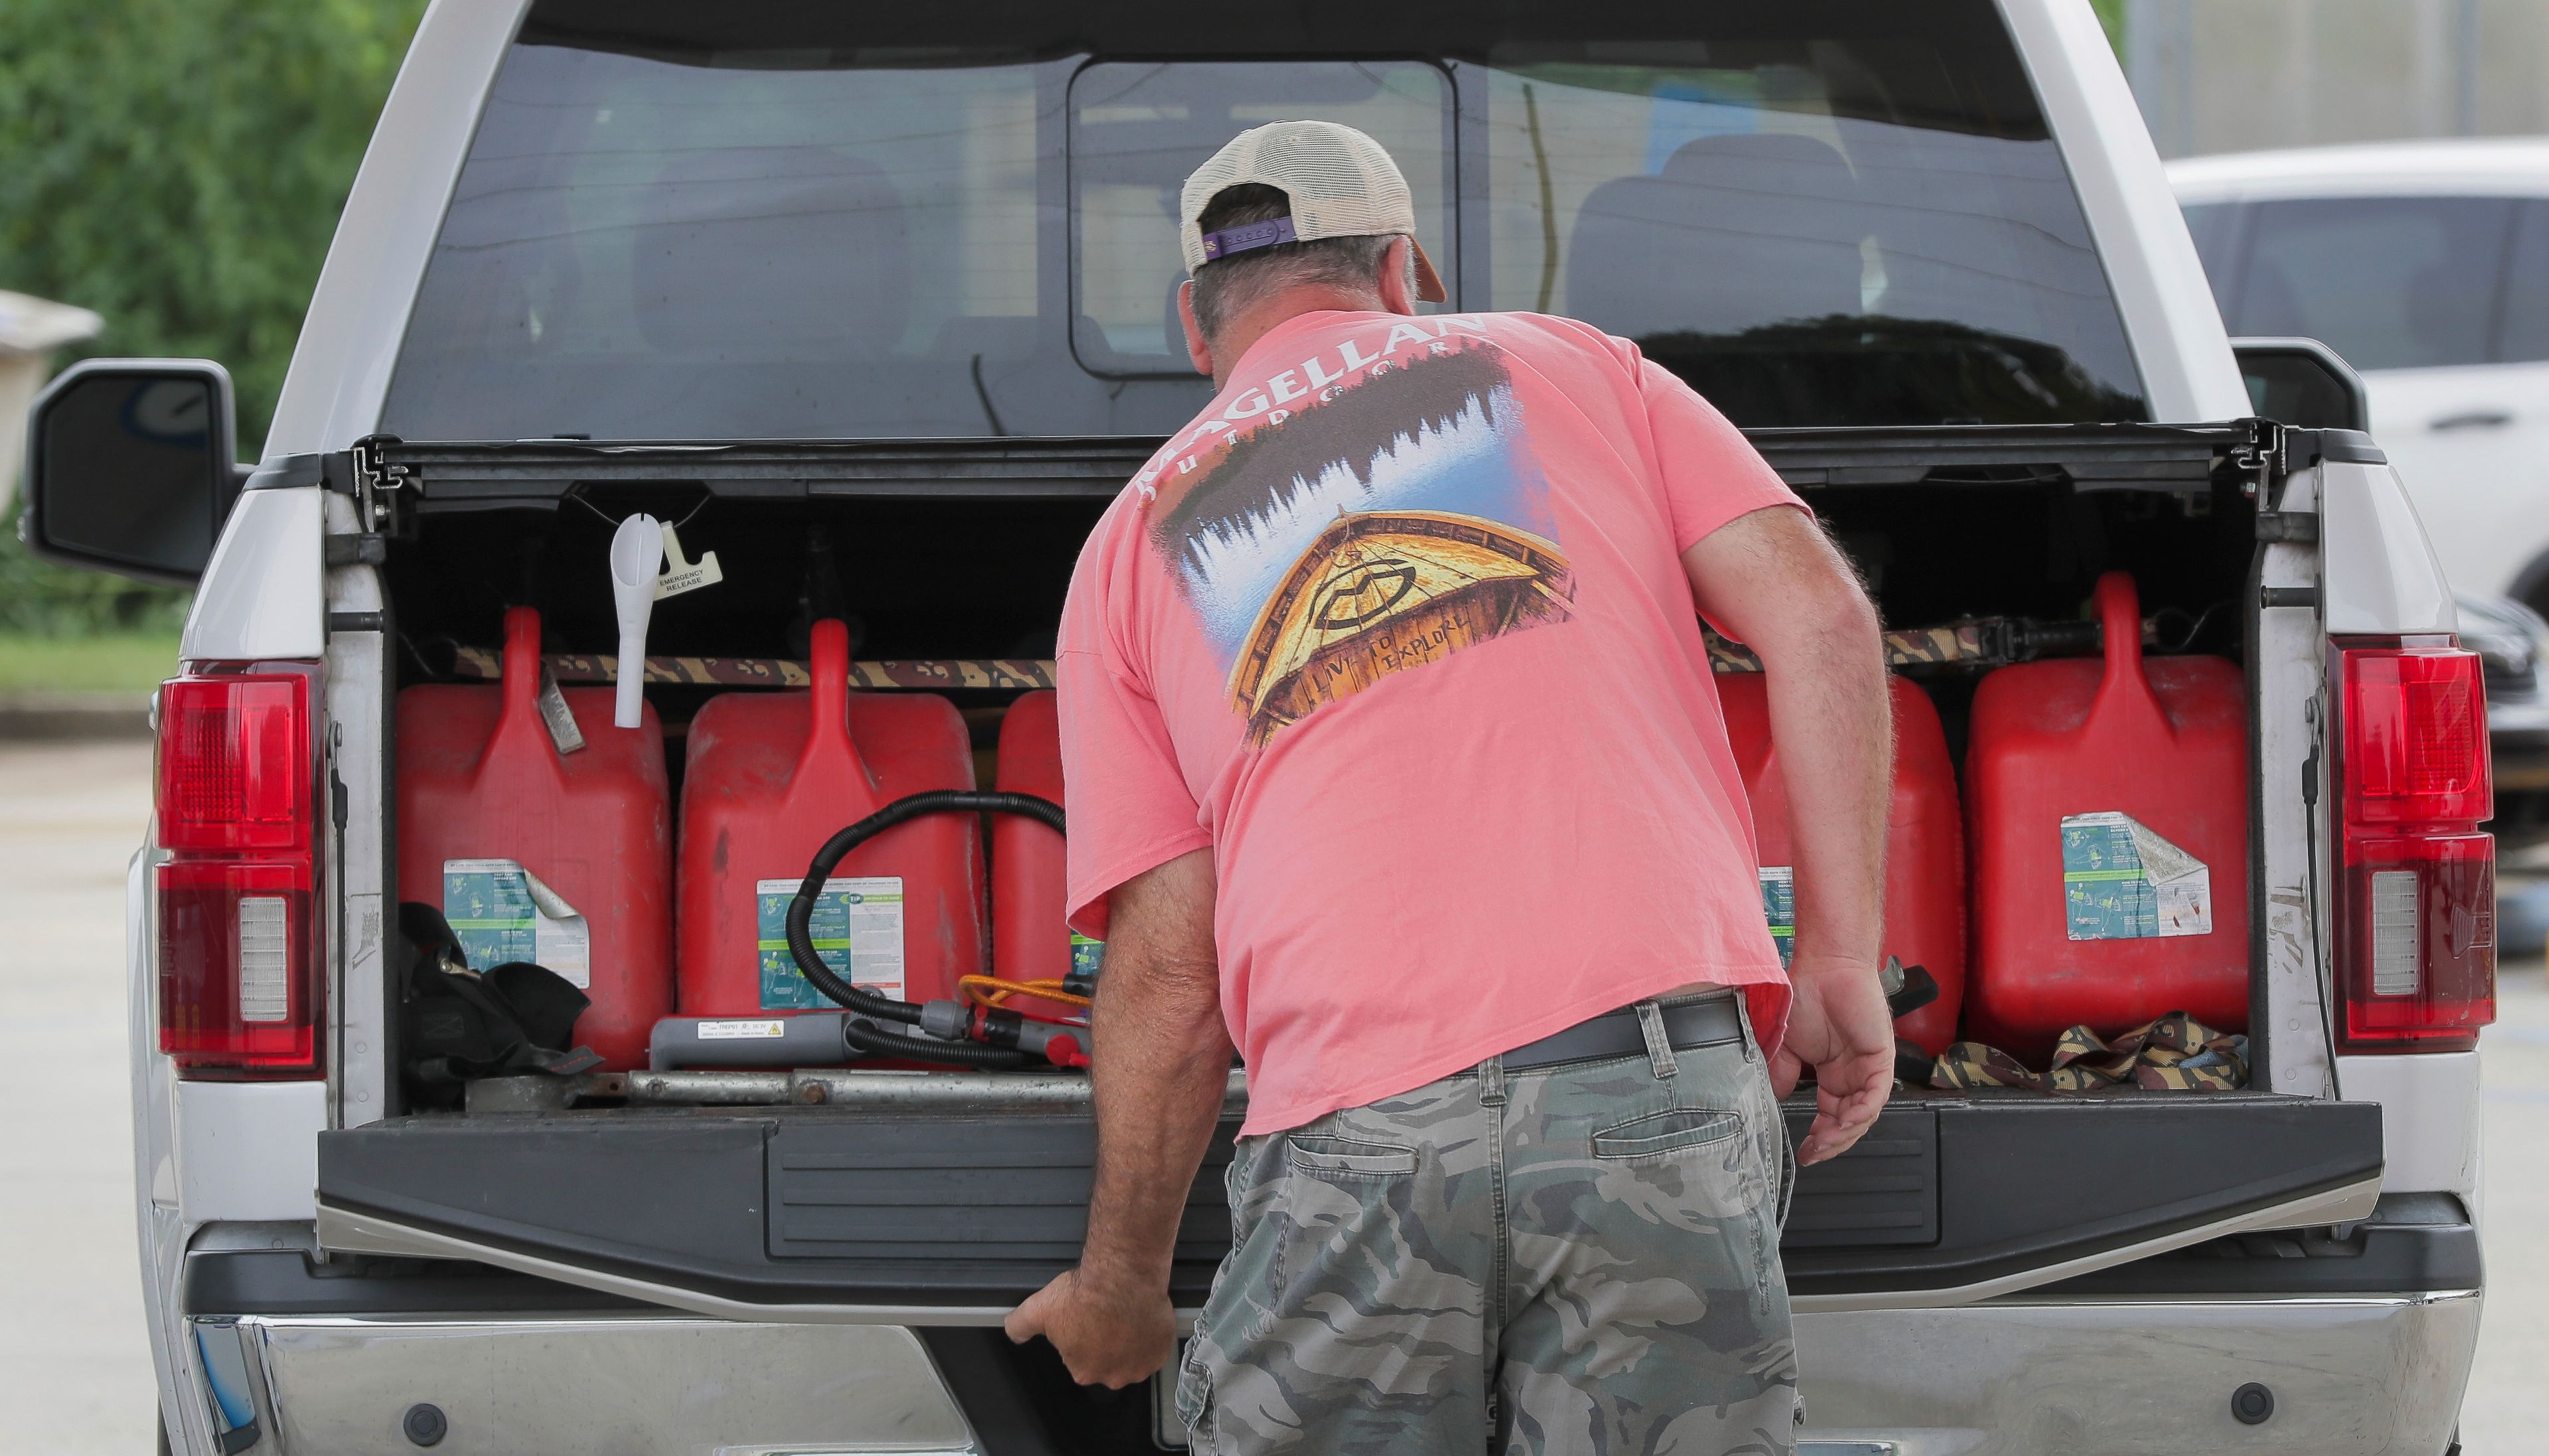
<path id="1" fill-rule="evenodd" d="M 319 1076 L 311 673 L 161 686 L 161 1051 L 184 1076 Z"/>

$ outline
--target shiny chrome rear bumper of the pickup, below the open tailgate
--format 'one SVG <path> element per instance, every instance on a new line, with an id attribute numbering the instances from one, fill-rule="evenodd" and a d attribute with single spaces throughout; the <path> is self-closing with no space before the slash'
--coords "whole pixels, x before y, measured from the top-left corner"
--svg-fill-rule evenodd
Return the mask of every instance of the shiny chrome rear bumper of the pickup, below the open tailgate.
<path id="1" fill-rule="evenodd" d="M 2350 1298 L 2001 1300 L 1797 1318 L 1815 1456 L 2439 1456 L 2475 1290 Z M 910 1329 L 688 1316 L 191 1321 L 214 1428 L 255 1456 L 976 1456 Z M 232 1359 L 235 1351 L 235 1359 Z M 2243 1425 L 2258 1382 L 2274 1415 Z M 976 1413 L 984 1415 L 984 1413 Z M 245 1425 L 255 1420 L 252 1443 Z"/>

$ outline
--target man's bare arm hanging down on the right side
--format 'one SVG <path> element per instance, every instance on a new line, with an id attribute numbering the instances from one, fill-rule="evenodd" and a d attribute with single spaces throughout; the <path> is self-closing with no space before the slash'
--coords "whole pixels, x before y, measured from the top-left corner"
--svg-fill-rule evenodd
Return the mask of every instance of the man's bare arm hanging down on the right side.
<path id="1" fill-rule="evenodd" d="M 1815 1068 L 1805 1163 L 1848 1150 L 1894 1091 L 1884 946 L 1894 724 L 1876 607 L 1810 515 L 1774 505 L 1718 525 L 1682 566 L 1700 612 L 1761 658 L 1797 859 L 1794 1007 L 1777 1084 Z"/>

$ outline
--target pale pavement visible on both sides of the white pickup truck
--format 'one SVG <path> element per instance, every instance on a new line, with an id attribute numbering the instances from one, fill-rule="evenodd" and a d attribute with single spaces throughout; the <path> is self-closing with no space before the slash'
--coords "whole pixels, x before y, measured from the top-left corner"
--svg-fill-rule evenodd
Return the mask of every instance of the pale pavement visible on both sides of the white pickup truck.
<path id="1" fill-rule="evenodd" d="M 133 1247 L 125 862 L 150 813 L 145 742 L 0 745 L 0 1410 L 48 1456 L 153 1448 Z M 2470 1456 L 2549 1431 L 2549 979 L 2508 964 L 2485 1038 L 2488 1313 Z"/>

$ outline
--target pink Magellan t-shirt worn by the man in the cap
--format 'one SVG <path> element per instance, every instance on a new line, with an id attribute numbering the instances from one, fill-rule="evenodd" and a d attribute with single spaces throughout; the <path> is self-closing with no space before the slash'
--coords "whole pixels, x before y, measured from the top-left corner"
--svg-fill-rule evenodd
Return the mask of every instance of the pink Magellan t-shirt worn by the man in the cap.
<path id="1" fill-rule="evenodd" d="M 1252 1135 L 1685 982 L 1777 1043 L 1680 553 L 1787 484 L 1570 319 L 1303 314 L 1229 380 L 1071 576 L 1071 926 L 1213 849 Z"/>

